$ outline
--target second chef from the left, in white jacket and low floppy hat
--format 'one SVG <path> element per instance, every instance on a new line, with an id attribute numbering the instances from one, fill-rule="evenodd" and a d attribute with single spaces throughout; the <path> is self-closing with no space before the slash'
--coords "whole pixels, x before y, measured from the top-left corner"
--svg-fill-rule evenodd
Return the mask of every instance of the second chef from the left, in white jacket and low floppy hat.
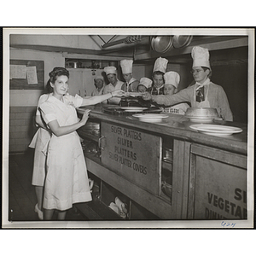
<path id="1" fill-rule="evenodd" d="M 104 72 L 106 73 L 106 75 L 108 77 L 109 84 L 107 84 L 104 87 L 103 94 L 110 93 L 113 90 L 120 90 L 122 88 L 122 85 L 124 84 L 124 82 L 119 81 L 119 79 L 117 78 L 116 67 L 113 67 L 113 66 L 104 67 Z M 113 98 L 108 99 L 108 102 L 105 101 L 103 103 L 118 105 L 120 100 L 121 100 L 121 98 L 119 98 L 119 97 L 113 97 Z"/>

